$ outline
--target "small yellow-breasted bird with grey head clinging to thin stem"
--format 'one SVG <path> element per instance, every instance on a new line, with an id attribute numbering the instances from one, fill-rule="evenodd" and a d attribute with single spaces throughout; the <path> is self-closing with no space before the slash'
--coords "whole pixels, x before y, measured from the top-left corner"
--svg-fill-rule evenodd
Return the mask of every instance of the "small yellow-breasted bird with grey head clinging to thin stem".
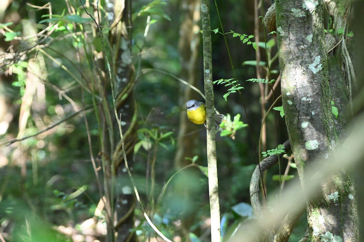
<path id="1" fill-rule="evenodd" d="M 223 114 L 215 114 L 215 128 L 219 128 L 219 124 L 222 122 Z M 198 102 L 196 100 L 190 100 L 187 102 L 187 117 L 191 122 L 195 124 L 206 125 L 206 106 L 203 102 Z"/>

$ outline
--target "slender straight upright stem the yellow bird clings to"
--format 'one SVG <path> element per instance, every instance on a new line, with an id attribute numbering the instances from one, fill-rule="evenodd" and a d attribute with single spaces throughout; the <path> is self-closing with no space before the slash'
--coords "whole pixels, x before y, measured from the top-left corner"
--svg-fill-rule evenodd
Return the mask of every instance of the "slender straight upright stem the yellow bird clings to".
<path id="1" fill-rule="evenodd" d="M 211 213 L 211 242 L 221 242 L 220 206 L 217 182 L 217 162 L 215 143 L 214 89 L 212 85 L 212 51 L 209 0 L 201 0 L 203 77 L 206 95 L 207 128 L 207 171 L 209 173 L 209 197 Z"/>

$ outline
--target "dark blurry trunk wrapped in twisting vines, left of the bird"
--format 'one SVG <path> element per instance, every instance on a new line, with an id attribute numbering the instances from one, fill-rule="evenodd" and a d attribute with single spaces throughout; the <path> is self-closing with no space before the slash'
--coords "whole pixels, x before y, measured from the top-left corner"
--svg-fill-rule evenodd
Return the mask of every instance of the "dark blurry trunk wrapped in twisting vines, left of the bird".
<path id="1" fill-rule="evenodd" d="M 121 119 L 123 131 L 124 146 L 129 167 L 132 167 L 134 145 L 137 138 L 137 110 L 134 99 L 134 83 L 135 69 L 132 63 L 131 42 L 129 41 L 127 26 L 128 11 L 130 11 L 129 1 L 125 0 L 109 0 L 107 11 L 112 12 L 113 19 L 110 21 L 109 40 L 113 49 L 111 70 L 115 92 L 115 108 Z M 112 4 L 110 4 L 112 3 Z M 112 116 L 114 115 L 113 108 Z M 116 173 L 116 197 L 115 197 L 115 213 L 116 225 L 115 231 L 118 233 L 116 242 L 133 242 L 137 241 L 135 233 L 131 231 L 134 227 L 134 209 L 135 195 L 129 177 L 124 165 L 124 156 L 122 151 L 122 141 L 119 136 L 119 128 L 115 122 L 114 132 L 116 140 L 118 140 L 112 159 L 115 164 Z"/>

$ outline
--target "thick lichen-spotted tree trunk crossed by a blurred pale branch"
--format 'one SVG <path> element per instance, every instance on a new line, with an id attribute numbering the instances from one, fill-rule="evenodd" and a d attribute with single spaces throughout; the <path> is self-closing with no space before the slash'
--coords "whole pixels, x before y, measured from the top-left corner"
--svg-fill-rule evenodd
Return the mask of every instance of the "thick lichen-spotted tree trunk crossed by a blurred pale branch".
<path id="1" fill-rule="evenodd" d="M 323 3 L 319 0 L 279 0 L 276 24 L 282 103 L 298 175 L 305 189 L 305 168 L 327 158 L 338 142 L 343 120 L 335 120 L 331 101 L 345 104 L 343 76 L 330 73 L 325 50 Z M 337 59 L 336 59 L 337 60 Z M 337 66 L 336 66 L 337 67 Z M 340 68 L 336 68 L 340 73 Z M 332 82 L 330 85 L 329 82 Z M 338 89 L 332 89 L 339 86 Z M 340 93 L 340 94 L 338 94 Z M 347 99 L 346 99 L 347 100 Z M 340 102 L 340 103 L 338 103 Z M 307 203 L 310 241 L 359 241 L 356 194 L 349 174 L 336 174 L 321 186 L 321 197 Z"/>

